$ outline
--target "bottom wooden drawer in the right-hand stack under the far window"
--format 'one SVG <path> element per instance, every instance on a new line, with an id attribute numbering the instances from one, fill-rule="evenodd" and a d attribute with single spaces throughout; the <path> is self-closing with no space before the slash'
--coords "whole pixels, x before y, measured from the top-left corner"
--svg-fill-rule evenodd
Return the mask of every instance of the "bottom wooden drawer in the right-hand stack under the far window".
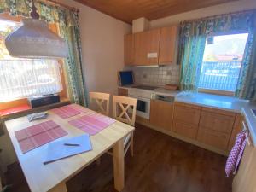
<path id="1" fill-rule="evenodd" d="M 215 148 L 227 149 L 230 135 L 227 133 L 209 130 L 205 127 L 200 127 L 197 134 L 197 140 L 201 143 L 211 145 Z"/>

